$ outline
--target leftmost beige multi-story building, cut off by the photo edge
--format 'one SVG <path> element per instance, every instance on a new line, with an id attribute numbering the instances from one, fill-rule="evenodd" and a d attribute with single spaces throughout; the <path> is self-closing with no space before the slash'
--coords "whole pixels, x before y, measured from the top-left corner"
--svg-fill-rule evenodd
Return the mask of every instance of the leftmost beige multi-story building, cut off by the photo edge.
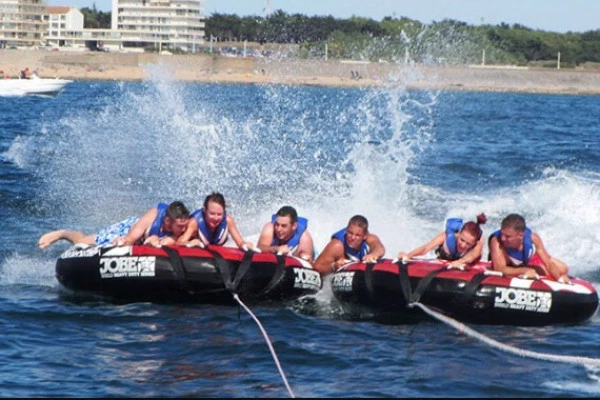
<path id="1" fill-rule="evenodd" d="M 46 13 L 45 0 L 0 0 L 0 48 L 43 44 Z"/>

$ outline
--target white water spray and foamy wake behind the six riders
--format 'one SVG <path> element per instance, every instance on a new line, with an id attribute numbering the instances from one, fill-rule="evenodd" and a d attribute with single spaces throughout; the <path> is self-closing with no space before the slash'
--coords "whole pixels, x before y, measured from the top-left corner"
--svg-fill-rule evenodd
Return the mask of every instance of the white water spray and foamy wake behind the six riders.
<path id="1" fill-rule="evenodd" d="M 485 212 L 487 235 L 520 212 L 576 272 L 598 256 L 597 176 L 549 168 L 493 191 L 422 183 L 415 171 L 437 140 L 440 98 L 406 90 L 408 72 L 379 89 L 184 84 L 163 67 L 149 72 L 147 82 L 83 88 L 101 93 L 96 106 L 42 123 L 5 153 L 41 182 L 48 223 L 93 231 L 158 201 L 196 208 L 221 191 L 246 236 L 291 204 L 318 249 L 355 214 L 393 257 L 441 232 L 447 217 Z"/>

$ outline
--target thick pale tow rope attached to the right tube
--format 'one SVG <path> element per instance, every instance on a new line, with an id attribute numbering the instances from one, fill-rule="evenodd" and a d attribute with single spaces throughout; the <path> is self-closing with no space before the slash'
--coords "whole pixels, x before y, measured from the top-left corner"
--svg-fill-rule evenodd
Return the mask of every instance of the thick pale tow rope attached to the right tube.
<path id="1" fill-rule="evenodd" d="M 432 317 L 454 327 L 458 332 L 465 333 L 468 336 L 474 337 L 484 343 L 489 344 L 492 347 L 497 349 L 506 351 L 508 353 L 516 354 L 522 357 L 531 357 L 537 358 L 540 360 L 547 361 L 555 361 L 555 362 L 563 362 L 563 363 L 571 363 L 571 364 L 583 364 L 589 366 L 600 366 L 600 359 L 598 358 L 589 358 L 589 357 L 575 357 L 575 356 L 559 356 L 555 354 L 547 354 L 547 353 L 537 353 L 535 351 L 523 350 L 517 347 L 509 346 L 504 343 L 500 343 L 492 338 L 489 338 L 471 328 L 459 322 L 453 318 L 448 317 L 447 315 L 440 314 L 436 311 L 433 311 L 429 307 L 419 302 L 411 303 L 408 305 L 409 307 L 417 306 L 425 313 L 431 315 Z"/>

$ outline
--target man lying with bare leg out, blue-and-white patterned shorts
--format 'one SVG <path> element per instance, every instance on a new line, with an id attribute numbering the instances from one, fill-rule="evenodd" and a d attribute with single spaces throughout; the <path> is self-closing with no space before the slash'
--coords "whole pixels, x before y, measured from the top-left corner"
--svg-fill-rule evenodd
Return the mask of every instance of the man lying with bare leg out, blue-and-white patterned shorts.
<path id="1" fill-rule="evenodd" d="M 48 232 L 38 242 L 45 249 L 58 240 L 73 244 L 129 246 L 150 244 L 153 246 L 174 244 L 185 231 L 190 213 L 180 201 L 171 204 L 159 203 L 148 210 L 141 218 L 130 217 L 105 228 L 94 235 L 81 231 L 59 229 Z"/>

